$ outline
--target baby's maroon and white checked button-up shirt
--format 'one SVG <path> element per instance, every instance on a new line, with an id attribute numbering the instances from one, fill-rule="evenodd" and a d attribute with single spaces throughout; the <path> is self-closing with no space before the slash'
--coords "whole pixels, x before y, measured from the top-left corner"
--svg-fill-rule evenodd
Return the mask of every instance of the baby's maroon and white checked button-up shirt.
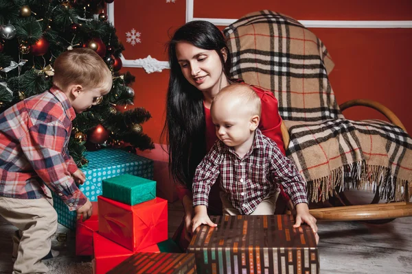
<path id="1" fill-rule="evenodd" d="M 208 206 L 209 191 L 220 175 L 220 186 L 234 208 L 251 214 L 279 184 L 284 186 L 294 205 L 308 203 L 306 183 L 295 164 L 286 158 L 276 143 L 255 130 L 250 151 L 240 159 L 232 147 L 218 140 L 198 164 L 193 180 L 193 206 Z"/>

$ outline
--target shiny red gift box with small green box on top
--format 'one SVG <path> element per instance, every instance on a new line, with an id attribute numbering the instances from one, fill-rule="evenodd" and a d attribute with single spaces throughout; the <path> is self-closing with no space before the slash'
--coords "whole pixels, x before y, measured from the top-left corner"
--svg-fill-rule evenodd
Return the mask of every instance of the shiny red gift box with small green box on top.
<path id="1" fill-rule="evenodd" d="M 99 233 L 131 251 L 168 238 L 168 201 L 159 197 L 135 206 L 98 197 Z"/>

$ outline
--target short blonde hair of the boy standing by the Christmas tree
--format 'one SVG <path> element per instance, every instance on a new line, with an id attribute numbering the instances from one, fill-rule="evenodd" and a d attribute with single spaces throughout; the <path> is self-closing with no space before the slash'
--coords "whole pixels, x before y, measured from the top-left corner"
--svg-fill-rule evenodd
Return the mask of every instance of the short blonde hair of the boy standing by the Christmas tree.
<path id="1" fill-rule="evenodd" d="M 54 61 L 53 84 L 65 90 L 71 84 L 111 90 L 113 78 L 103 59 L 93 49 L 65 51 Z"/>

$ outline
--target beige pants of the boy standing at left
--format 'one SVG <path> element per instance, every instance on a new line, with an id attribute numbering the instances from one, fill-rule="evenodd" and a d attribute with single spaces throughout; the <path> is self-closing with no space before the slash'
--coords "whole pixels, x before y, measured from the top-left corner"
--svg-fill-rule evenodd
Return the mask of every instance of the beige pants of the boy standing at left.
<path id="1" fill-rule="evenodd" d="M 41 259 L 49 253 L 57 230 L 53 199 L 0 197 L 0 215 L 19 229 L 13 236 L 13 274 L 47 273 L 49 269 Z"/>

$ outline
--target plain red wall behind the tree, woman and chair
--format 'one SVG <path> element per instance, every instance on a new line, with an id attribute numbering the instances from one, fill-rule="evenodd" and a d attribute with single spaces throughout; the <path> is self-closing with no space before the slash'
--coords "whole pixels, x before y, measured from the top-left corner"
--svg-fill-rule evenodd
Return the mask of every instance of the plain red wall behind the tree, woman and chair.
<path id="1" fill-rule="evenodd" d="M 115 0 L 115 27 L 124 42 L 126 59 L 152 58 L 165 61 L 165 43 L 176 27 L 185 23 L 185 0 Z M 233 8 L 236 6 L 236 8 Z M 256 10 L 268 9 L 297 20 L 412 21 L 412 1 L 397 0 L 194 0 L 194 17 L 239 18 Z M 141 43 L 126 42 L 126 32 L 141 32 Z M 350 99 L 372 99 L 393 110 L 412 132 L 409 114 L 412 78 L 412 29 L 329 29 L 312 28 L 324 42 L 335 67 L 330 82 L 338 103 Z M 135 106 L 152 114 L 144 132 L 155 142 L 164 123 L 168 69 L 148 74 L 144 69 L 124 68 L 136 76 Z M 348 119 L 385 119 L 374 110 L 353 108 L 344 112 Z"/>

